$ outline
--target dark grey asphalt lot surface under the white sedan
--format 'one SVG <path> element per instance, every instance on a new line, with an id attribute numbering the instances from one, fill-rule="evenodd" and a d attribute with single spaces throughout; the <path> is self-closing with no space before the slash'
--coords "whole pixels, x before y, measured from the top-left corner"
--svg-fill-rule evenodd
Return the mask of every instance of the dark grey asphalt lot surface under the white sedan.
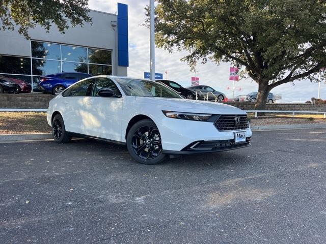
<path id="1" fill-rule="evenodd" d="M 0 144 L 1 243 L 325 243 L 326 130 L 134 163 L 88 140 Z"/>

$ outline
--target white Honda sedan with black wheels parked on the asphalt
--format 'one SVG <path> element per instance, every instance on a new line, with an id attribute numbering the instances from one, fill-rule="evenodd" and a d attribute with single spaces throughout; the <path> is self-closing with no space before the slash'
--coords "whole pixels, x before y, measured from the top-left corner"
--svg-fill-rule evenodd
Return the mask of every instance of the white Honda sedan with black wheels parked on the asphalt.
<path id="1" fill-rule="evenodd" d="M 157 164 L 169 155 L 212 153 L 250 146 L 246 112 L 183 99 L 150 80 L 95 76 L 49 102 L 53 139 L 87 137 L 126 144 L 133 159 Z"/>

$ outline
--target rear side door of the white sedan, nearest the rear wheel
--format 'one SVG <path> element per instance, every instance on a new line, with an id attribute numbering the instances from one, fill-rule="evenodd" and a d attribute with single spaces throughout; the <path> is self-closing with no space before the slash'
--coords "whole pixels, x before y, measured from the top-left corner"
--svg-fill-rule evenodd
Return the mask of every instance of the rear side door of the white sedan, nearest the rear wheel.
<path id="1" fill-rule="evenodd" d="M 90 96 L 94 79 L 73 84 L 62 96 L 62 115 L 66 131 L 89 135 L 95 121 L 89 116 Z M 85 126 L 86 125 L 86 126 Z"/>

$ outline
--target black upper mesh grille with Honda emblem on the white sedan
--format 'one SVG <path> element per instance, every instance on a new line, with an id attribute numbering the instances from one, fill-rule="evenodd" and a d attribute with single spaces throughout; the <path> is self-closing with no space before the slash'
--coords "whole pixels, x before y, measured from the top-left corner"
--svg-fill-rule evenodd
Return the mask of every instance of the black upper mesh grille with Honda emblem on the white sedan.
<path id="1" fill-rule="evenodd" d="M 236 125 L 235 117 L 239 117 L 239 124 Z M 235 131 L 249 128 L 247 115 L 221 115 L 214 123 L 214 126 L 219 131 Z"/>

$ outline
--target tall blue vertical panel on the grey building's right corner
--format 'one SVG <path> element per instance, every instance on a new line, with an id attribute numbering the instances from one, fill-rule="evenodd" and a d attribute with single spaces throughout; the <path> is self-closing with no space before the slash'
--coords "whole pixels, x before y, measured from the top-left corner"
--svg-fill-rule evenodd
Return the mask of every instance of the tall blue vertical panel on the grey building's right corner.
<path id="1" fill-rule="evenodd" d="M 118 65 L 129 66 L 128 5 L 118 3 Z"/>

